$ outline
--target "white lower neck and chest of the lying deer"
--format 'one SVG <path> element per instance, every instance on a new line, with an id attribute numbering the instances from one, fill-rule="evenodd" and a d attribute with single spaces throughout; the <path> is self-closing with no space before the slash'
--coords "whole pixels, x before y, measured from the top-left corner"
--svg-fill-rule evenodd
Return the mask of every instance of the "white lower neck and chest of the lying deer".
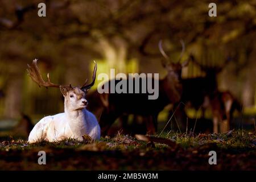
<path id="1" fill-rule="evenodd" d="M 87 112 L 86 109 L 69 110 L 68 107 L 65 106 L 65 115 L 68 125 L 72 133 L 77 137 L 88 133 L 89 124 L 88 121 L 86 121 Z"/>

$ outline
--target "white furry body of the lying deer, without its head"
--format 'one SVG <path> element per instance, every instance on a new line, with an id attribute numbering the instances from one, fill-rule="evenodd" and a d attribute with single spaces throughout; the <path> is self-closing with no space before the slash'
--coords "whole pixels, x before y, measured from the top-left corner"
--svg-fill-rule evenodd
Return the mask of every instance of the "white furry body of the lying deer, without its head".
<path id="1" fill-rule="evenodd" d="M 72 115 L 60 113 L 42 118 L 31 131 L 28 142 L 56 142 L 67 138 L 82 140 L 83 135 L 89 135 L 93 140 L 100 139 L 97 119 L 86 109 L 74 111 Z"/>

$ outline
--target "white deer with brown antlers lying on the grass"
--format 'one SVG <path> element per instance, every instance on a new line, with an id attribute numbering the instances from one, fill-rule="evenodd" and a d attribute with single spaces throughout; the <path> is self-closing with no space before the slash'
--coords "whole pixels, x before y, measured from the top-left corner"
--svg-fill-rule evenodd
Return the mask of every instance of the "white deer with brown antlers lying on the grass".
<path id="1" fill-rule="evenodd" d="M 93 140 L 100 139 L 100 126 L 96 117 L 86 110 L 88 101 L 85 99 L 86 90 L 94 85 L 96 79 L 97 64 L 94 61 L 93 81 L 79 87 L 53 84 L 47 75 L 48 81 L 44 81 L 36 65 L 37 60 L 33 60 L 32 65 L 28 65 L 28 73 L 33 81 L 39 86 L 60 88 L 64 96 L 64 113 L 50 115 L 41 119 L 32 129 L 28 142 L 34 143 L 40 140 L 55 142 L 67 138 L 83 140 L 84 135 L 89 135 Z"/>

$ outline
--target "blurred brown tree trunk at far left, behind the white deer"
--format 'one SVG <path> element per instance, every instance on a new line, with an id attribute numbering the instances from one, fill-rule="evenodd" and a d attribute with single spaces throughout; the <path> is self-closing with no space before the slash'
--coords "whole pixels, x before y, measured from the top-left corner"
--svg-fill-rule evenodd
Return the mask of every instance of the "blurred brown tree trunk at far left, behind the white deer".
<path id="1" fill-rule="evenodd" d="M 10 77 L 6 88 L 4 116 L 6 118 L 17 118 L 21 109 L 23 77 L 19 74 Z"/>

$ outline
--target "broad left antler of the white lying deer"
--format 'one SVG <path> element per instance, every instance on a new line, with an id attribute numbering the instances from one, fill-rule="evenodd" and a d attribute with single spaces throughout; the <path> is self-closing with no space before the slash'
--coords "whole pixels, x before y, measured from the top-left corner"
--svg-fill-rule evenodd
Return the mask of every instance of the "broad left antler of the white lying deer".
<path id="1" fill-rule="evenodd" d="M 57 87 L 57 88 L 59 88 L 60 85 L 56 85 L 56 84 L 53 84 L 51 82 L 51 80 L 49 78 L 49 73 L 47 73 L 47 79 L 48 80 L 47 81 L 43 80 L 42 75 L 39 71 L 39 68 L 36 65 L 37 61 L 38 61 L 37 59 L 34 59 L 32 61 L 31 65 L 27 64 L 27 66 L 28 66 L 27 72 L 28 72 L 28 75 L 32 78 L 32 80 L 35 81 L 39 85 L 39 87 L 40 86 L 45 86 L 46 88 L 48 88 L 48 87 Z"/>

